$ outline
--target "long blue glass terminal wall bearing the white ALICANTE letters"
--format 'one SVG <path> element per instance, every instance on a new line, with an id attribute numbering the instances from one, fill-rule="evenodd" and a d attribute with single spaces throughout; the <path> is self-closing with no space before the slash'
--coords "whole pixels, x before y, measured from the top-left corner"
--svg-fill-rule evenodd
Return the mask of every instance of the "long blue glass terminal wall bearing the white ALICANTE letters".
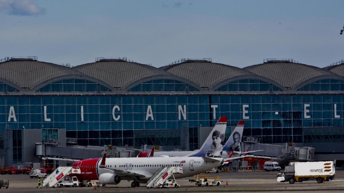
<path id="1" fill-rule="evenodd" d="M 244 120 L 244 135 L 261 137 L 262 143 L 302 143 L 302 128 L 343 126 L 343 108 L 339 94 L 1 96 L 0 131 L 6 125 L 66 128 L 78 145 L 139 146 L 145 141 L 142 129 L 213 126 L 227 116 L 230 125 Z"/>

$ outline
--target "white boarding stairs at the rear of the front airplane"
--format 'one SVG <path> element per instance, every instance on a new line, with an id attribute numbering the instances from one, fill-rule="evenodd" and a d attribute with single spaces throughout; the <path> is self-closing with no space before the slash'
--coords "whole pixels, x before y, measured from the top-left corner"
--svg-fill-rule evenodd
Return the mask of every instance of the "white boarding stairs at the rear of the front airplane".
<path id="1" fill-rule="evenodd" d="M 181 166 L 161 167 L 147 182 L 147 188 L 155 188 L 162 185 L 174 173 L 183 173 Z"/>

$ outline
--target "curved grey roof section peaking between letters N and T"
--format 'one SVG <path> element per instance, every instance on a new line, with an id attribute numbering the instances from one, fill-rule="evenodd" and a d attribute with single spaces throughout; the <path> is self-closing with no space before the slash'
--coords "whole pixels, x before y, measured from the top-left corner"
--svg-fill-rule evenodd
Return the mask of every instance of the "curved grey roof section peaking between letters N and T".
<path id="1" fill-rule="evenodd" d="M 192 81 L 202 88 L 211 88 L 223 80 L 252 74 L 244 69 L 209 61 L 186 60 L 183 63 L 161 67 L 176 76 Z"/>

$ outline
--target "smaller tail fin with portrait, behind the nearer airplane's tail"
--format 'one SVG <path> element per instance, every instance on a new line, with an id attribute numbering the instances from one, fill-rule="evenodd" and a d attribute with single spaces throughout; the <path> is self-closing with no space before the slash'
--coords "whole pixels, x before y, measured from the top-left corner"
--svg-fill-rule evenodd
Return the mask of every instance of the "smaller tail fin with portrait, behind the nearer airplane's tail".
<path id="1" fill-rule="evenodd" d="M 239 121 L 232 134 L 230 134 L 226 144 L 223 146 L 225 151 L 241 151 L 241 137 L 243 136 L 245 121 Z"/>

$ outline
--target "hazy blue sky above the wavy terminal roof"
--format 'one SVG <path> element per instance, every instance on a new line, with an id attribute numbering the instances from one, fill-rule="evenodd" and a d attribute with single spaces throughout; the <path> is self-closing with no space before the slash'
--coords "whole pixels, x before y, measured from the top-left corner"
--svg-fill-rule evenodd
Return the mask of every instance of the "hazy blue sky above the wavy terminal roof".
<path id="1" fill-rule="evenodd" d="M 127 57 L 155 67 L 266 58 L 326 67 L 344 59 L 344 1 L 0 0 L 0 58 L 77 66 Z"/>

